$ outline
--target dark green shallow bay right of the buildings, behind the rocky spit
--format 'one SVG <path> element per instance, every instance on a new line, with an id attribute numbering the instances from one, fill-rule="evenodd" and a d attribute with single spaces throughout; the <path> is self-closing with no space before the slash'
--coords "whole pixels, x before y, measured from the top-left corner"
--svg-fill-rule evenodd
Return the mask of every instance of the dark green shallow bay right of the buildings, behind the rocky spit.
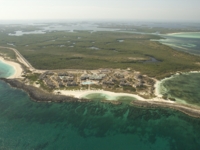
<path id="1" fill-rule="evenodd" d="M 174 75 L 161 82 L 160 92 L 200 106 L 200 73 Z"/>

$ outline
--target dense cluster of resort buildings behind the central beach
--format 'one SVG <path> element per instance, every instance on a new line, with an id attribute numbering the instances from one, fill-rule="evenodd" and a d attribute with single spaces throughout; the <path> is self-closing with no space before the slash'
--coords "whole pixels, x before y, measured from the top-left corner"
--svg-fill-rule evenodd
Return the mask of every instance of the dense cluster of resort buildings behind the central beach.
<path id="1" fill-rule="evenodd" d="M 138 72 L 119 69 L 101 69 L 81 73 L 47 71 L 41 74 L 39 79 L 52 89 L 96 84 L 102 89 L 124 90 L 134 88 L 135 90 L 141 90 L 146 88 L 152 91 L 149 87 L 153 87 L 154 84 L 152 79 L 142 76 Z"/>

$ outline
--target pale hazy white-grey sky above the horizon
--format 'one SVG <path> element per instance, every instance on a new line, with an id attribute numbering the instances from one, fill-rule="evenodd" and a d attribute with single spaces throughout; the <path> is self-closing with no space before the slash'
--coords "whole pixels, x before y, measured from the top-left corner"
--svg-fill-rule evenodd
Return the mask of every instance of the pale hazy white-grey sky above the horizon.
<path id="1" fill-rule="evenodd" d="M 0 20 L 200 22 L 200 0 L 0 0 Z"/>

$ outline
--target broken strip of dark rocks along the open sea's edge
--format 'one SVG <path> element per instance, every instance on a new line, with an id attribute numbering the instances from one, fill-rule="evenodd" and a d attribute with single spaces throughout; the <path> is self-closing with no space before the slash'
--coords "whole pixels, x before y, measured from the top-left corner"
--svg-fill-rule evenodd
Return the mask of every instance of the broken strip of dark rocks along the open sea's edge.
<path id="1" fill-rule="evenodd" d="M 55 95 L 53 93 L 49 93 L 46 91 L 43 91 L 42 89 L 39 89 L 37 87 L 34 87 L 32 85 L 25 85 L 23 82 L 21 82 L 18 79 L 6 79 L 6 78 L 0 78 L 0 80 L 10 84 L 14 88 L 22 89 L 25 92 L 28 93 L 30 98 L 37 102 L 88 102 L 90 100 L 88 99 L 79 99 L 71 96 L 65 96 L 65 95 Z M 107 101 L 102 100 L 102 103 L 111 103 L 114 105 L 120 105 L 121 102 L 119 101 Z M 130 105 L 133 105 L 135 107 L 142 107 L 142 108 L 170 108 L 175 109 L 178 111 L 183 112 L 184 114 L 187 114 L 191 117 L 200 118 L 200 108 L 185 104 L 179 104 L 179 103 L 169 103 L 169 102 L 159 102 L 159 101 L 146 101 L 146 100 L 134 100 L 130 103 Z"/>

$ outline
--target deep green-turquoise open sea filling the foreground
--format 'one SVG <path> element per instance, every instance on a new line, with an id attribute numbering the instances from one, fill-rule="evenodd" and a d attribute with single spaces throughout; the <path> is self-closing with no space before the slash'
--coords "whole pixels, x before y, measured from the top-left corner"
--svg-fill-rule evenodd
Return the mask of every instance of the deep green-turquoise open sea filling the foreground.
<path id="1" fill-rule="evenodd" d="M 100 103 L 102 95 L 89 97 L 92 102 L 37 103 L 0 81 L 0 149 L 200 149 L 200 119 L 172 109 Z"/>

